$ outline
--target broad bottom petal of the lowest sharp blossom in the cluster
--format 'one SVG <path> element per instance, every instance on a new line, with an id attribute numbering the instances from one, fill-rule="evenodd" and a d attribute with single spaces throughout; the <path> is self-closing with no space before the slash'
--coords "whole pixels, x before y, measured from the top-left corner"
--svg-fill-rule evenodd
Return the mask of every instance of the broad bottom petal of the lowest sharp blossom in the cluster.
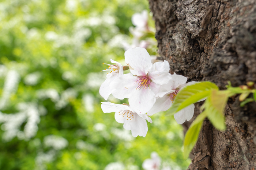
<path id="1" fill-rule="evenodd" d="M 134 118 L 132 120 L 125 120 L 124 129 L 131 130 L 133 137 L 146 137 L 148 131 L 147 121 L 141 118 L 138 114 L 134 114 Z"/>

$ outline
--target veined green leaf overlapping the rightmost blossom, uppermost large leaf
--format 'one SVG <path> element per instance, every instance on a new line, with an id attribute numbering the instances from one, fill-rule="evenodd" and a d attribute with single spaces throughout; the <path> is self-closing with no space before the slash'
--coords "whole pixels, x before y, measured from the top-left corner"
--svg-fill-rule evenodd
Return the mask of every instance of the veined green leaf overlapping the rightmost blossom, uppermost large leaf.
<path id="1" fill-rule="evenodd" d="M 185 86 L 178 92 L 172 107 L 166 115 L 173 115 L 190 104 L 206 98 L 210 95 L 210 91 L 213 89 L 219 90 L 218 86 L 212 82 L 199 82 L 190 86 Z"/>

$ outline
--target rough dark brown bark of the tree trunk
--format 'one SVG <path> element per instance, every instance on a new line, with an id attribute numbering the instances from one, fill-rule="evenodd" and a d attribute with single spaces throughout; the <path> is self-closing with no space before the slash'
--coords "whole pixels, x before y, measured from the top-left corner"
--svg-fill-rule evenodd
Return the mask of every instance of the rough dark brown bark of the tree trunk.
<path id="1" fill-rule="evenodd" d="M 220 89 L 256 82 L 256 0 L 149 0 L 159 54 L 171 72 Z M 226 131 L 205 120 L 190 170 L 256 169 L 256 103 L 225 109 Z M 201 103 L 196 104 L 195 115 Z M 192 118 L 194 119 L 194 118 Z M 190 123 L 184 124 L 185 131 Z"/>

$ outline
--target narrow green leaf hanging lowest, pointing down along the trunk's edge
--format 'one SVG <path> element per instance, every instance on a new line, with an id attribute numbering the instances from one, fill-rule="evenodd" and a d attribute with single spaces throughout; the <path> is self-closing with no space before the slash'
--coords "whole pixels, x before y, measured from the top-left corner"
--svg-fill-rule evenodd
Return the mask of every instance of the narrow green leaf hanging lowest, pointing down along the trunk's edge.
<path id="1" fill-rule="evenodd" d="M 183 148 L 184 148 L 183 154 L 185 159 L 188 158 L 189 153 L 191 152 L 191 150 L 193 149 L 193 147 L 197 142 L 198 135 L 200 133 L 204 118 L 206 118 L 206 112 L 202 112 L 200 115 L 196 117 L 196 119 L 190 125 L 185 135 L 185 139 L 183 143 Z"/>

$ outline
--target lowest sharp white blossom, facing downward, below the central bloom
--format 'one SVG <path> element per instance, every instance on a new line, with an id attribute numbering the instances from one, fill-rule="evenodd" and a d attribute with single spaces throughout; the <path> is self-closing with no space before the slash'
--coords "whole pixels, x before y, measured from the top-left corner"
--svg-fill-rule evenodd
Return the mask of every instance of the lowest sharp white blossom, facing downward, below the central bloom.
<path id="1" fill-rule="evenodd" d="M 133 137 L 146 137 L 148 131 L 147 121 L 152 123 L 147 114 L 137 114 L 128 104 L 102 102 L 101 108 L 104 113 L 116 112 L 116 121 L 124 123 L 124 129 L 131 130 Z"/>

